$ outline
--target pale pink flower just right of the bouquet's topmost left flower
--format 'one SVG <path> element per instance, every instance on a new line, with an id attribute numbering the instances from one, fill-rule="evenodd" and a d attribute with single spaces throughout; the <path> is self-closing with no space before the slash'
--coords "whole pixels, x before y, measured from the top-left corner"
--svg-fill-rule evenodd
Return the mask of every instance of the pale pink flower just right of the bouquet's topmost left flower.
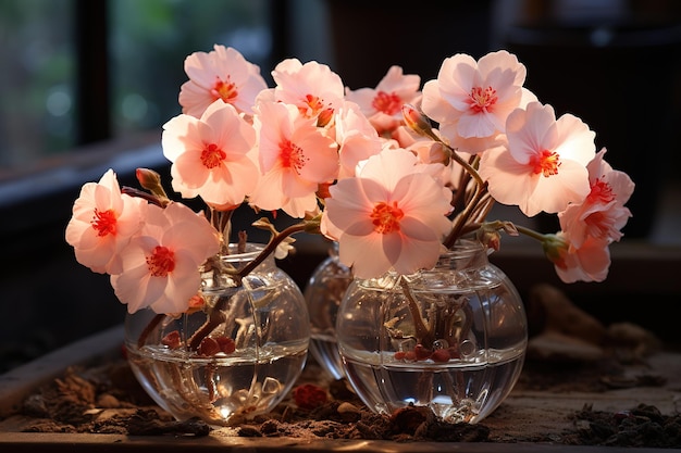
<path id="1" fill-rule="evenodd" d="M 259 101 L 294 104 L 308 118 L 335 111 L 343 103 L 343 80 L 325 64 L 315 61 L 302 64 L 298 59 L 288 59 L 276 65 L 272 77 L 276 87 L 264 91 Z"/>

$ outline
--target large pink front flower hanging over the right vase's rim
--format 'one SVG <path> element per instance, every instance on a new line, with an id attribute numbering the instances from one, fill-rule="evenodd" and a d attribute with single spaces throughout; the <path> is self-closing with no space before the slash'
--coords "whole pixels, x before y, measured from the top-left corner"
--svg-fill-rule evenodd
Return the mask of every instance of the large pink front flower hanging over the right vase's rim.
<path id="1" fill-rule="evenodd" d="M 432 171 L 417 163 L 409 151 L 384 150 L 358 177 L 330 188 L 322 232 L 338 241 L 338 256 L 355 276 L 408 275 L 436 263 L 451 206 Z"/>

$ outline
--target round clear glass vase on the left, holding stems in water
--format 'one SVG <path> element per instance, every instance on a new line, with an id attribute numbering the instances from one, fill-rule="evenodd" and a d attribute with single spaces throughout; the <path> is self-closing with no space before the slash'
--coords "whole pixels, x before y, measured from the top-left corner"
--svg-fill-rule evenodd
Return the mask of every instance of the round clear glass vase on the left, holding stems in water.
<path id="1" fill-rule="evenodd" d="M 235 246 L 230 249 L 236 251 Z M 295 281 L 268 256 L 242 281 L 238 269 L 262 250 L 220 256 L 201 269 L 202 309 L 177 316 L 127 314 L 131 367 L 149 395 L 178 420 L 228 426 L 270 412 L 307 358 L 310 324 Z"/>

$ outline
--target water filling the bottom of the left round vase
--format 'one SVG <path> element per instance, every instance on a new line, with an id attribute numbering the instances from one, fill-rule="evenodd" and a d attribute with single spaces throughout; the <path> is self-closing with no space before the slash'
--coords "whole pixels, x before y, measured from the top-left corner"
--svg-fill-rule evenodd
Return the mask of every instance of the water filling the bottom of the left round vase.
<path id="1" fill-rule="evenodd" d="M 153 400 L 175 418 L 211 425 L 271 411 L 305 366 L 307 342 L 201 357 L 163 347 L 128 348 L 128 361 Z M 237 417 L 240 418 L 240 417 Z"/>

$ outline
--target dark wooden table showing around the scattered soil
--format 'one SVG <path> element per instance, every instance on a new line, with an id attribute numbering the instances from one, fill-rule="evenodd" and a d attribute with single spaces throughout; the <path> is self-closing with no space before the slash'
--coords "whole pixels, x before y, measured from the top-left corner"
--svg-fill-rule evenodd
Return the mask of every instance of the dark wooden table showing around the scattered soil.
<path id="1" fill-rule="evenodd" d="M 62 375 L 66 366 L 102 363 L 120 354 L 122 327 L 106 330 L 70 347 L 46 355 L 0 376 L 0 451 L 14 452 L 132 452 L 191 451 L 191 452 L 570 452 L 612 453 L 616 448 L 567 446 L 558 442 L 517 442 L 522 439 L 522 427 L 533 424 L 536 429 L 561 432 L 572 426 L 569 414 L 585 404 L 593 411 L 618 412 L 634 407 L 640 402 L 657 406 L 664 414 L 678 414 L 681 405 L 681 354 L 663 351 L 649 357 L 648 372 L 664 376 L 663 387 L 636 387 L 606 392 L 566 392 L 513 390 L 497 411 L 484 420 L 493 430 L 507 437 L 502 442 L 391 442 L 373 440 L 301 440 L 296 438 L 242 438 L 227 436 L 220 429 L 207 437 L 138 437 L 94 433 L 35 433 L 21 432 L 22 417 L 11 415 L 22 401 L 40 386 Z M 624 449 L 630 453 L 669 452 L 669 449 Z M 681 451 L 681 450 L 679 450 Z"/>

